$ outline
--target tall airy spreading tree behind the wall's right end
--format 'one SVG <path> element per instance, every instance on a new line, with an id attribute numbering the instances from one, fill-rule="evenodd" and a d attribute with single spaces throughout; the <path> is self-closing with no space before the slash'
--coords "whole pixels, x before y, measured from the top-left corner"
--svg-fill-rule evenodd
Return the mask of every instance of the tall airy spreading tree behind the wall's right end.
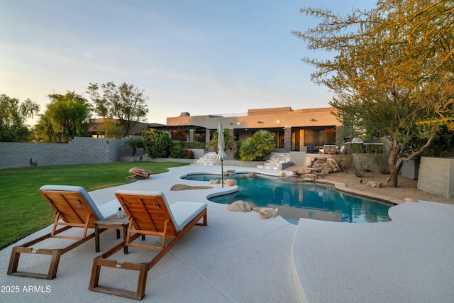
<path id="1" fill-rule="evenodd" d="M 99 93 L 99 88 L 102 94 Z M 90 83 L 87 93 L 92 98 L 95 113 L 104 119 L 118 121 L 123 126 L 125 135 L 136 123 L 145 121 L 148 114 L 148 97 L 133 84 L 116 86 L 114 82 L 101 85 Z"/>

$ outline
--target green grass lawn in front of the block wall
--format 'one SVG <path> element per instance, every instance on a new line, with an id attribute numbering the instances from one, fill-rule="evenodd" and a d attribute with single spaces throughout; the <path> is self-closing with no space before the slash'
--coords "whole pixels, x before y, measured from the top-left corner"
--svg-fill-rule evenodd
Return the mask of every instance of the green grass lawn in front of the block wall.
<path id="1" fill-rule="evenodd" d="M 152 175 L 185 165 L 175 162 L 140 162 Z M 55 214 L 38 189 L 45 184 L 77 185 L 87 192 L 131 183 L 126 180 L 131 162 L 57 165 L 0 170 L 0 250 L 53 223 Z"/>

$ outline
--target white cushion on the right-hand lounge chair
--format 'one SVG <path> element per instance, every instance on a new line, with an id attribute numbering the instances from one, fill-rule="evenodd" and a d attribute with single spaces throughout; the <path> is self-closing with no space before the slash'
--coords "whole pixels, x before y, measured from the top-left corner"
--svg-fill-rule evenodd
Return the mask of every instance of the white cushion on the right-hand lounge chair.
<path id="1" fill-rule="evenodd" d="M 175 202 L 169 205 L 165 195 L 162 192 L 147 192 L 143 190 L 118 190 L 118 194 L 134 194 L 138 196 L 157 196 L 162 197 L 167 209 L 169 209 L 170 216 L 175 228 L 180 232 L 192 219 L 206 209 L 207 204 L 202 202 Z"/>

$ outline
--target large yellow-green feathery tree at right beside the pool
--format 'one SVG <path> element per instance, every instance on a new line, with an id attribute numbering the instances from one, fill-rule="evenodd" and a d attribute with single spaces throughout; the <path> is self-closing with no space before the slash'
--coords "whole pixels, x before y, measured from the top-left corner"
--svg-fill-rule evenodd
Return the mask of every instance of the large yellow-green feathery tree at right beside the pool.
<path id="1" fill-rule="evenodd" d="M 335 93 L 338 119 L 390 143 L 390 184 L 405 160 L 423 153 L 441 125 L 453 128 L 454 2 L 379 0 L 342 17 L 304 8 L 321 19 L 294 35 L 332 58 L 303 58 L 311 77 Z M 419 145 L 410 143 L 419 143 Z"/>

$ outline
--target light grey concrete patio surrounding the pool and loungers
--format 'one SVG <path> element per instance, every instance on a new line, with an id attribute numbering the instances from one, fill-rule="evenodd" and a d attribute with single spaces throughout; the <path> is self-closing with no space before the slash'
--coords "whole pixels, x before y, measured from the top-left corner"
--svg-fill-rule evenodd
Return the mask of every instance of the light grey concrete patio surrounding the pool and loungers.
<path id="1" fill-rule="evenodd" d="M 224 166 L 227 169 L 277 175 L 253 167 Z M 221 167 L 175 167 L 150 180 L 89 192 L 104 216 L 118 209 L 114 196 L 118 188 L 160 191 L 170 204 L 209 204 L 208 226 L 194 226 L 148 272 L 143 302 L 452 302 L 454 298 L 454 205 L 406 202 L 389 210 L 392 221 L 386 223 L 300 219 L 296 226 L 280 216 L 260 220 L 255 212 L 226 211 L 226 205 L 206 199 L 236 187 L 211 184 L 213 189 L 170 190 L 175 184 L 206 185 L 179 179 L 190 172 L 219 173 Z M 48 232 L 50 226 L 13 246 Z M 64 241 L 51 239 L 41 246 L 62 246 Z M 114 230 L 101 233 L 100 253 L 118 241 Z M 92 260 L 100 254 L 94 251 L 94 240 L 62 255 L 53 280 L 6 275 L 13 246 L 0 250 L 0 302 L 133 302 L 88 290 Z M 114 259 L 143 262 L 155 254 L 140 248 L 129 252 L 119 252 Z M 20 267 L 46 272 L 48 259 L 24 255 Z M 125 270 L 106 270 L 104 279 L 129 290 L 137 281 L 135 272 Z"/>

